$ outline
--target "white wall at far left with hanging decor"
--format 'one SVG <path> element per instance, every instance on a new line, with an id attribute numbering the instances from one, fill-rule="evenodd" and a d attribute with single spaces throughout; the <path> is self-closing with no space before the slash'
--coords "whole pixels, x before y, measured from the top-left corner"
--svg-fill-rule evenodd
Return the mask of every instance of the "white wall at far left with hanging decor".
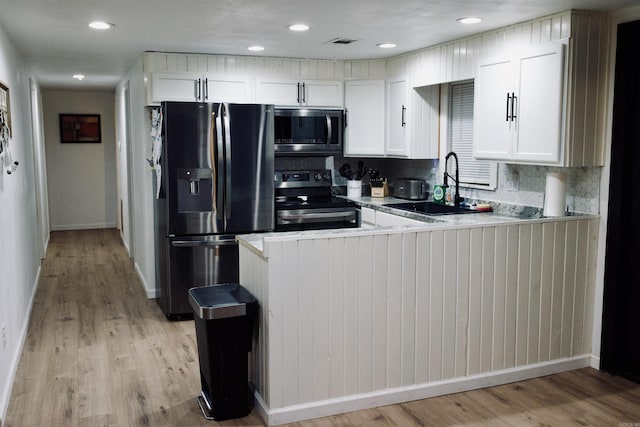
<path id="1" fill-rule="evenodd" d="M 39 195 L 34 179 L 29 77 L 15 47 L 0 28 L 0 81 L 10 91 L 11 150 L 20 162 L 13 174 L 0 175 L 0 328 L 4 326 L 6 331 L 6 344 L 0 334 L 0 424 L 7 412 L 37 287 L 38 248 L 43 245 L 41 240 L 48 237 L 40 235 L 36 218 Z M 37 85 L 33 89 L 37 92 Z"/>

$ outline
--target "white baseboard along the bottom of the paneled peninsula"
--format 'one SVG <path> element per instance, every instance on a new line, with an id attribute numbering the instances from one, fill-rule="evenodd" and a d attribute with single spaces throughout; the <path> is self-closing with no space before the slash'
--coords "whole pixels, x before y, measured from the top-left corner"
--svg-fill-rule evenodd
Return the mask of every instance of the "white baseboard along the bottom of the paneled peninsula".
<path id="1" fill-rule="evenodd" d="M 412 400 L 524 381 L 531 378 L 557 374 L 559 372 L 585 368 L 590 365 L 591 355 L 583 355 L 463 378 L 418 384 L 409 387 L 398 387 L 277 409 L 269 409 L 262 397 L 256 392 L 256 409 L 268 426 L 277 426 L 378 406 L 393 405 Z"/>

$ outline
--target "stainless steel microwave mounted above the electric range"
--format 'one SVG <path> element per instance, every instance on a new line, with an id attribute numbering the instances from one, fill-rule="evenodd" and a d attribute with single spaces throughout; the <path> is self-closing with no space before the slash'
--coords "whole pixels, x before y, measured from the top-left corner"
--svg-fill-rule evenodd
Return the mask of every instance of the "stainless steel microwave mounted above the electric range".
<path id="1" fill-rule="evenodd" d="M 274 110 L 276 156 L 342 154 L 344 111 L 313 108 Z"/>

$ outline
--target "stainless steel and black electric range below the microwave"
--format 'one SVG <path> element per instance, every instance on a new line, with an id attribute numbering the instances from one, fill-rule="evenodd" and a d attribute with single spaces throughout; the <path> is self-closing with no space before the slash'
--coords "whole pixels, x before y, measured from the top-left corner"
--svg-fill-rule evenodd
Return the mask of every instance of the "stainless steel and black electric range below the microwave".
<path id="1" fill-rule="evenodd" d="M 331 171 L 276 171 L 276 231 L 358 227 L 355 202 L 333 195 Z"/>

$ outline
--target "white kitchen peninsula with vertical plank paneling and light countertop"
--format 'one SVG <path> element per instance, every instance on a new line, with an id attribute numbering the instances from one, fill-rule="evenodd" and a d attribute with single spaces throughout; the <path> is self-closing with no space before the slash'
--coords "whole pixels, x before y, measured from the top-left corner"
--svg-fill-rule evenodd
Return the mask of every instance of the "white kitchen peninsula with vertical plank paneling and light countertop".
<path id="1" fill-rule="evenodd" d="M 589 366 L 597 233 L 478 213 L 238 236 L 258 410 L 278 425 Z"/>

